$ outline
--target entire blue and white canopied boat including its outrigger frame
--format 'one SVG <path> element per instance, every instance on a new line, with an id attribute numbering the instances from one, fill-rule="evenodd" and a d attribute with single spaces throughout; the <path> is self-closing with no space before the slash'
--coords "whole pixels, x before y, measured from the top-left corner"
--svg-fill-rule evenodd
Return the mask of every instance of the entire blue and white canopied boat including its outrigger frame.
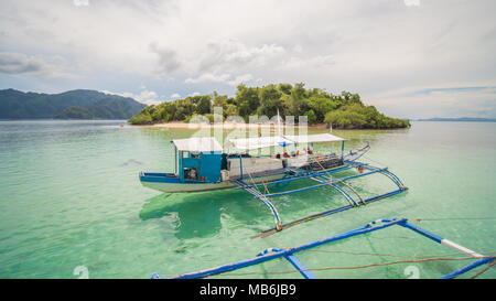
<path id="1" fill-rule="evenodd" d="M 213 137 L 172 140 L 175 148 L 175 171 L 173 173 L 140 172 L 142 185 L 162 192 L 200 192 L 220 189 L 240 189 L 263 202 L 272 213 L 276 226 L 263 230 L 259 236 L 266 237 L 278 230 L 291 227 L 302 222 L 327 216 L 356 206 L 392 196 L 407 190 L 403 183 L 387 168 L 376 168 L 357 162 L 370 147 L 344 151 L 345 139 L 331 133 L 272 136 L 257 138 L 229 139 L 228 149 L 236 152 L 224 152 L 220 143 Z M 341 142 L 341 153 L 316 153 L 313 143 Z M 283 155 L 250 155 L 250 150 L 265 148 L 309 146 Z M 335 178 L 337 172 L 357 169 L 359 173 L 344 178 Z M 385 194 L 364 198 L 347 183 L 348 180 L 380 173 L 390 179 L 398 189 Z M 310 179 L 313 185 L 282 192 L 270 192 L 271 187 L 287 187 L 293 181 Z M 282 224 L 276 206 L 270 197 L 330 186 L 339 192 L 348 205 L 313 214 L 291 223 Z"/>

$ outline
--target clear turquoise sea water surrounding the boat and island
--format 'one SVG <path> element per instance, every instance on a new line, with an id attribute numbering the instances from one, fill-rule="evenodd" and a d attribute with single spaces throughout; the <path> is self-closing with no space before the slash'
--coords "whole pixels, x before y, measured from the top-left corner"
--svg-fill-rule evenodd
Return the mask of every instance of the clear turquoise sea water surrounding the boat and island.
<path id="1" fill-rule="evenodd" d="M 263 204 L 225 190 L 162 194 L 142 187 L 138 172 L 172 171 L 172 138 L 191 130 L 150 129 L 122 121 L 0 121 L 0 278 L 149 278 L 176 275 L 291 247 L 360 227 L 411 217 L 467 248 L 490 254 L 495 243 L 496 123 L 413 122 L 411 129 L 334 131 L 346 149 L 368 141 L 364 161 L 388 165 L 407 193 L 250 239 L 272 226 Z M 381 175 L 353 182 L 364 195 L 395 186 Z M 328 187 L 274 198 L 283 221 L 344 205 Z M 355 237 L 298 257 L 309 268 L 393 260 L 390 255 L 454 250 L 403 228 Z M 468 261 L 429 261 L 315 271 L 320 278 L 435 278 Z M 413 266 L 413 268 L 409 267 Z M 76 269 L 77 270 L 77 269 Z M 300 278 L 283 260 L 224 277 Z M 490 269 L 481 278 L 495 278 Z M 247 273 L 239 276 L 235 273 Z"/>

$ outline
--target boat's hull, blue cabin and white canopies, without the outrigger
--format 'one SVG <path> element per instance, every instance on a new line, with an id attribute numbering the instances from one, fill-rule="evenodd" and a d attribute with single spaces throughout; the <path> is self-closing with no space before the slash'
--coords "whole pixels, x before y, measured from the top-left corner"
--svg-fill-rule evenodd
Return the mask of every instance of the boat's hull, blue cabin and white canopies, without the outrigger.
<path id="1" fill-rule="evenodd" d="M 288 147 L 303 142 L 334 142 L 344 139 L 331 133 L 287 137 L 261 137 L 230 139 L 228 142 L 245 153 L 224 153 L 223 147 L 213 137 L 172 140 L 175 153 L 173 173 L 141 172 L 141 183 L 162 192 L 198 192 L 237 186 L 236 180 L 249 179 L 255 183 L 267 183 L 287 176 L 288 170 L 332 170 L 355 161 L 369 150 L 366 146 L 346 154 L 317 154 L 306 150 L 304 154 L 254 157 L 246 151 Z M 321 166 L 322 165 L 322 166 Z"/>

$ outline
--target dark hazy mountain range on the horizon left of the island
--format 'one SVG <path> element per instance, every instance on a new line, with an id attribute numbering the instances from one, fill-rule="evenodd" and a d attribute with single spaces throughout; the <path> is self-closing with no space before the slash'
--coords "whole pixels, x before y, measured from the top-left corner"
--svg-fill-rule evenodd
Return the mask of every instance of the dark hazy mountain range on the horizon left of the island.
<path id="1" fill-rule="evenodd" d="M 144 107 L 129 97 L 87 89 L 61 94 L 0 90 L 0 119 L 128 119 Z"/>

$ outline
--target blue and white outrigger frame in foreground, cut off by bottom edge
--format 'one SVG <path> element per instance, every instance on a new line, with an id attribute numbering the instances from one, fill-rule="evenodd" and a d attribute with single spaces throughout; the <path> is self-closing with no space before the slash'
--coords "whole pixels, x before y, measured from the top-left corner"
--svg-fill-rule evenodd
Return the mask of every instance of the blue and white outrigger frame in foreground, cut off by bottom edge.
<path id="1" fill-rule="evenodd" d="M 454 270 L 443 277 L 441 277 L 441 279 L 452 279 L 455 278 L 460 275 L 463 275 L 470 270 L 475 269 L 476 267 L 479 267 L 482 265 L 486 265 L 486 264 L 490 264 L 493 262 L 496 257 L 495 256 L 483 256 L 481 254 L 477 254 L 473 250 L 470 250 L 465 247 L 462 247 L 451 240 L 448 240 L 441 236 L 438 236 L 435 234 L 432 234 L 417 225 L 410 224 L 408 223 L 407 218 L 392 218 L 392 219 L 379 219 L 376 222 L 371 222 L 367 225 L 365 225 L 364 227 L 357 228 L 357 229 L 353 229 L 346 233 L 342 233 L 338 235 L 334 235 L 334 236 L 330 236 L 327 238 L 324 239 L 320 239 L 320 240 L 315 240 L 309 244 L 303 244 L 300 245 L 298 247 L 293 247 L 293 248 L 285 248 L 285 249 L 276 249 L 276 248 L 269 248 L 263 250 L 262 252 L 258 254 L 256 257 L 249 258 L 249 259 L 245 259 L 241 261 L 237 261 L 237 262 L 233 262 L 233 264 L 228 264 L 228 265 L 224 265 L 224 266 L 219 266 L 216 268 L 211 268 L 211 269 L 205 269 L 205 270 L 201 270 L 201 271 L 195 271 L 195 272 L 188 272 L 188 273 L 183 273 L 183 275 L 177 275 L 177 276 L 170 276 L 170 277 L 161 277 L 158 273 L 153 273 L 152 275 L 152 279 L 195 279 L 195 278 L 205 278 L 205 277 L 209 277 L 209 276 L 215 276 L 215 275 L 220 275 L 220 273 L 225 273 L 225 272 L 229 272 L 229 271 L 234 271 L 234 270 L 238 270 L 238 269 L 242 269 L 246 267 L 250 267 L 250 266 L 255 266 L 255 265 L 259 265 L 266 261 L 270 261 L 273 260 L 276 258 L 284 258 L 287 259 L 289 262 L 291 262 L 291 265 L 295 268 L 295 270 L 298 272 L 300 272 L 305 279 L 313 279 L 315 278 L 315 276 L 312 273 L 311 269 L 306 268 L 295 256 L 294 254 L 299 252 L 299 251 L 303 251 L 306 249 L 311 249 L 311 248 L 315 248 L 328 243 L 333 243 L 333 241 L 337 241 L 337 240 L 342 240 L 345 238 L 349 238 L 353 236 L 357 236 L 357 235 L 362 235 L 362 234 L 366 234 L 366 233 L 371 233 L 375 230 L 380 230 L 393 225 L 398 225 L 408 229 L 411 229 L 433 241 L 436 241 L 439 244 L 442 245 L 446 245 L 451 248 L 454 248 L 459 251 L 462 251 L 464 254 L 470 255 L 471 257 L 473 257 L 474 259 L 476 259 L 475 261 L 473 261 L 472 264 L 464 266 L 457 270 Z"/>

